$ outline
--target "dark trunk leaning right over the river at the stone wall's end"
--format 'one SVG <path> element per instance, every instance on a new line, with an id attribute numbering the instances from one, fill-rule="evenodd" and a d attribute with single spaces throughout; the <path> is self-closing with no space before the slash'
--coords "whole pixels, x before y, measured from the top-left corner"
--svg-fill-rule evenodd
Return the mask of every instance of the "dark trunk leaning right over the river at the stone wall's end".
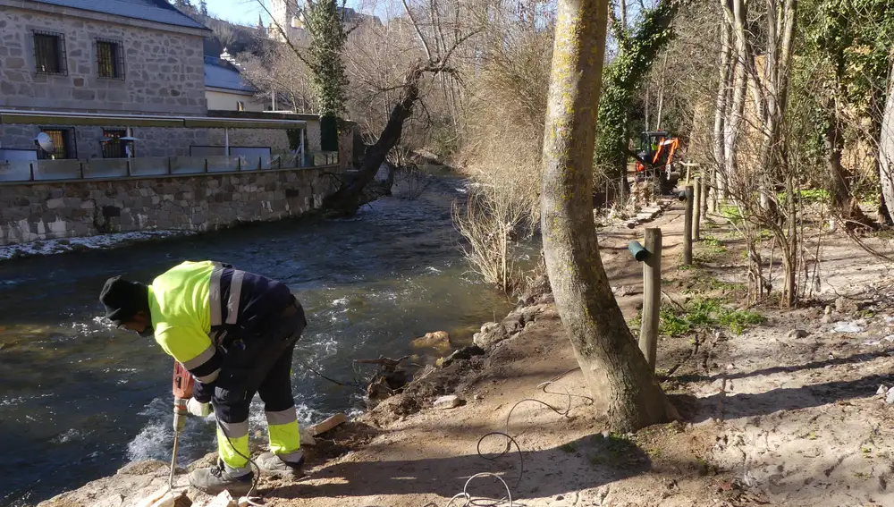
<path id="1" fill-rule="evenodd" d="M 419 80 L 426 72 L 426 63 L 419 62 L 403 80 L 401 99 L 394 105 L 388 123 L 375 144 L 367 148 L 358 173 L 339 190 L 323 199 L 323 207 L 340 215 L 353 215 L 361 204 L 363 189 L 375 178 L 388 152 L 401 140 L 403 123 L 413 114 L 413 106 L 419 98 Z"/>

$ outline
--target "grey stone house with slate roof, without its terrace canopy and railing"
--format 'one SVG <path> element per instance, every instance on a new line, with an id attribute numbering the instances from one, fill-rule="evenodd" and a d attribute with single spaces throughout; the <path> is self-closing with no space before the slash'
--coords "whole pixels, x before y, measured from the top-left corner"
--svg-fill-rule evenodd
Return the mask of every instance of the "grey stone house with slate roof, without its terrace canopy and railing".
<path id="1" fill-rule="evenodd" d="M 164 0 L 0 0 L 0 108 L 127 114 L 206 114 L 208 30 Z M 122 156 L 129 134 L 147 154 L 186 155 L 201 131 L 165 135 L 126 125 L 0 126 L 0 148 L 34 149 L 38 131 L 60 158 Z M 158 141 L 151 139 L 159 139 Z M 21 154 L 20 154 L 21 155 Z"/>

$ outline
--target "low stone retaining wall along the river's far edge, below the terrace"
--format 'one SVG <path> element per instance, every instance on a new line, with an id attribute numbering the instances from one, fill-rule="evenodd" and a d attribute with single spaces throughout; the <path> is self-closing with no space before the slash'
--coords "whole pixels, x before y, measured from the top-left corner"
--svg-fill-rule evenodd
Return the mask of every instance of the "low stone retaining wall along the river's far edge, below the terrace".
<path id="1" fill-rule="evenodd" d="M 302 215 L 333 192 L 330 167 L 0 185 L 0 245 L 108 232 L 213 231 Z"/>

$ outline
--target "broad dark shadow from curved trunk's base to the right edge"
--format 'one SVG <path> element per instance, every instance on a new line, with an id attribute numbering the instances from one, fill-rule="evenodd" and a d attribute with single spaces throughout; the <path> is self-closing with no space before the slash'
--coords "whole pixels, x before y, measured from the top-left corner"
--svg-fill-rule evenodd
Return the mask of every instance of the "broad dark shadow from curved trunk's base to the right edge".
<path id="1" fill-rule="evenodd" d="M 871 375 L 856 380 L 842 380 L 811 384 L 803 387 L 778 388 L 765 393 L 716 393 L 706 398 L 691 394 L 671 394 L 671 402 L 681 416 L 698 423 L 723 416 L 748 418 L 769 415 L 780 410 L 799 410 L 820 407 L 836 401 L 848 401 L 872 396 L 879 384 L 890 384 L 892 376 Z"/>

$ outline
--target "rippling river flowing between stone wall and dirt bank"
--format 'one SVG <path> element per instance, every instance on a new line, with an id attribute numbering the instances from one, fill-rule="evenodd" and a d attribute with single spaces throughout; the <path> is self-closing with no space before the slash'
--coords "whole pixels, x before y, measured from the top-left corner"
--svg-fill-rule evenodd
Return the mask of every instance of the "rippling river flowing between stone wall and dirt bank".
<path id="1" fill-rule="evenodd" d="M 0 506 L 38 503 L 128 461 L 170 460 L 172 359 L 100 317 L 109 276 L 148 283 L 183 260 L 215 259 L 288 283 L 308 311 L 292 378 L 304 422 L 363 403 L 299 361 L 353 379 L 351 359 L 413 353 L 409 341 L 426 332 L 470 340 L 509 302 L 460 256 L 450 207 L 462 184 L 439 176 L 418 199 L 380 199 L 350 219 L 0 263 Z M 179 462 L 214 448 L 214 423 L 190 419 Z"/>

